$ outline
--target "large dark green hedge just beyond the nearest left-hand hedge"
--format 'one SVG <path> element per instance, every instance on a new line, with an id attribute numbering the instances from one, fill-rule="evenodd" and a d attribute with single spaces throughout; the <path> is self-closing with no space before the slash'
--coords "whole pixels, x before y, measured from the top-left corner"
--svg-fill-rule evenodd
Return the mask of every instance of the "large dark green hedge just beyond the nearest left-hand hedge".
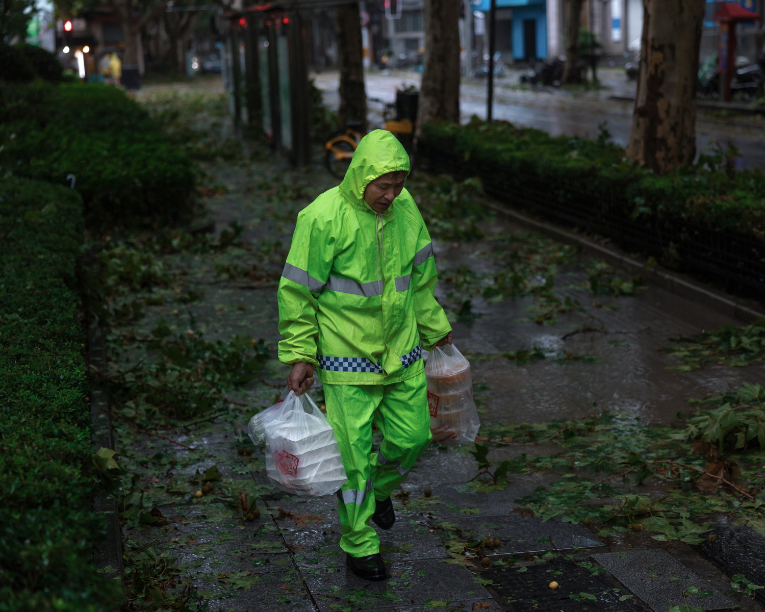
<path id="1" fill-rule="evenodd" d="M 75 189 L 89 223 L 174 222 L 192 209 L 195 167 L 133 99 L 112 86 L 8 84 L 0 166 Z"/>

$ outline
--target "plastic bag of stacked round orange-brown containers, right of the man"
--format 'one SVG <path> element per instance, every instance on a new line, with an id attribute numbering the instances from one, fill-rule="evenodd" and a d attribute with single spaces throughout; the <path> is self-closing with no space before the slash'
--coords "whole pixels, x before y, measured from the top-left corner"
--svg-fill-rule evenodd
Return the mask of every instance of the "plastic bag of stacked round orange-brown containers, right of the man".
<path id="1" fill-rule="evenodd" d="M 433 440 L 457 446 L 476 439 L 480 421 L 473 401 L 470 362 L 454 344 L 436 347 L 425 364 Z"/>

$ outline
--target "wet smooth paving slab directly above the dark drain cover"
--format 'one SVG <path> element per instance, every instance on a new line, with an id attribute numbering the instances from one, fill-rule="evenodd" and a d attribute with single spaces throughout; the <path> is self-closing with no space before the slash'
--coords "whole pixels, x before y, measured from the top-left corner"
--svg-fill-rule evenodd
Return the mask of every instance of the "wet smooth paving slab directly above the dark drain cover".
<path id="1" fill-rule="evenodd" d="M 555 519 L 542 522 L 536 516 L 520 513 L 494 516 L 466 516 L 450 519 L 463 533 L 478 537 L 500 539 L 502 544 L 493 555 L 522 552 L 540 552 L 548 549 L 591 549 L 603 543 L 581 525 L 572 525 Z"/>

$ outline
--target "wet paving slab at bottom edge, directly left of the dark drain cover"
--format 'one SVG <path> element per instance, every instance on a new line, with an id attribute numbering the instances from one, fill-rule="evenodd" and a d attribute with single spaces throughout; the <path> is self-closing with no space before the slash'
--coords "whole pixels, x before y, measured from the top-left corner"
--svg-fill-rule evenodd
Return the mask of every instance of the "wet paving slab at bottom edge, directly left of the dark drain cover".
<path id="1" fill-rule="evenodd" d="M 394 562 L 389 565 L 389 581 L 363 581 L 345 565 L 304 570 L 303 574 L 321 612 L 423 610 L 428 602 L 444 602 L 441 607 L 446 609 L 472 610 L 476 604 L 493 603 L 467 568 L 434 559 Z"/>

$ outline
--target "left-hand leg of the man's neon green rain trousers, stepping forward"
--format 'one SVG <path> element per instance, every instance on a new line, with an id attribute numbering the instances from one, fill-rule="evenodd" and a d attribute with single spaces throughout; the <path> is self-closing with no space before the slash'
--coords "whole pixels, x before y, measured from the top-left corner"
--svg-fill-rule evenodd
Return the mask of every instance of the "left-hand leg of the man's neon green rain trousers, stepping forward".
<path id="1" fill-rule="evenodd" d="M 379 537 L 369 519 L 375 511 L 371 494 L 372 415 L 382 399 L 382 386 L 324 385 L 327 419 L 337 436 L 348 480 L 337 492 L 343 535 L 340 548 L 354 557 L 379 552 Z"/>

